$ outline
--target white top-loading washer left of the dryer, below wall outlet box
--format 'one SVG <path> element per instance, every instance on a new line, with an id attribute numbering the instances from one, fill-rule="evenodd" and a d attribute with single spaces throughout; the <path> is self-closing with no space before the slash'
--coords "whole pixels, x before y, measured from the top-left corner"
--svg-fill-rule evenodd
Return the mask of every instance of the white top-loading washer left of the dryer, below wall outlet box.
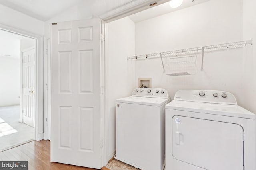
<path id="1" fill-rule="evenodd" d="M 164 168 L 164 113 L 170 102 L 160 88 L 137 88 L 116 100 L 117 160 L 141 170 Z"/>

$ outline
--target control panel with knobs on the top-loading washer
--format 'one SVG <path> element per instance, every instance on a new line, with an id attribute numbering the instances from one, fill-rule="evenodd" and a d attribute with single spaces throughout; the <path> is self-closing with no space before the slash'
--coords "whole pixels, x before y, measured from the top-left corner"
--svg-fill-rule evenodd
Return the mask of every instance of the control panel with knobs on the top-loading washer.
<path id="1" fill-rule="evenodd" d="M 167 90 L 162 88 L 136 88 L 132 96 L 150 97 L 150 98 L 170 98 Z"/>

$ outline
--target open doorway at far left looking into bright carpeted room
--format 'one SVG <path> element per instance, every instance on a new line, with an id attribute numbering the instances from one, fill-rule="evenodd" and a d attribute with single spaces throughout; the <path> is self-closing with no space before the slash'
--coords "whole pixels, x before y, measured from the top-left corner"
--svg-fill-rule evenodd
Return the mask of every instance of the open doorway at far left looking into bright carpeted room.
<path id="1" fill-rule="evenodd" d="M 35 139 L 36 39 L 0 30 L 0 151 Z"/>

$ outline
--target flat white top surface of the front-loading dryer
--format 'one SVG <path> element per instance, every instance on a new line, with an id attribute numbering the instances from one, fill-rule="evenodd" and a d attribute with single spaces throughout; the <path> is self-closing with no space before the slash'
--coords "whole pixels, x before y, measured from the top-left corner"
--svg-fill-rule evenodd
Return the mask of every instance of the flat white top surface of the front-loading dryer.
<path id="1" fill-rule="evenodd" d="M 172 100 L 165 106 L 166 109 L 230 116 L 230 117 L 242 117 L 247 119 L 255 119 L 255 114 L 238 106 L 230 104 L 213 104 L 203 102 L 190 102 Z"/>

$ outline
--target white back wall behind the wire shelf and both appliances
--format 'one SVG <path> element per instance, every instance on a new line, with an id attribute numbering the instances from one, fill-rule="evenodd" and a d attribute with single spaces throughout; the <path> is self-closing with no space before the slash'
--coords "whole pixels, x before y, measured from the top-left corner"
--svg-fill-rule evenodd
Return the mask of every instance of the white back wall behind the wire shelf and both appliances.
<path id="1" fill-rule="evenodd" d="M 143 55 L 242 41 L 242 0 L 211 0 L 135 25 L 135 53 Z M 160 59 L 136 61 L 136 78 L 152 78 L 152 86 L 165 88 L 171 99 L 178 90 L 208 89 L 233 93 L 242 100 L 242 49 L 206 53 L 204 70 L 191 76 L 166 76 Z"/>

